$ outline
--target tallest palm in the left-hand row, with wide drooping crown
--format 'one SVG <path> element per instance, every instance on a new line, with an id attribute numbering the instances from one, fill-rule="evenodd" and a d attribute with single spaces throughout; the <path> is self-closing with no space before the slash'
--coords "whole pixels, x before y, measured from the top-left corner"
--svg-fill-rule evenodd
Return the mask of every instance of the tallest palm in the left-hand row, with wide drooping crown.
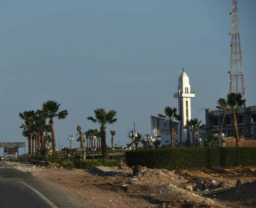
<path id="1" fill-rule="evenodd" d="M 54 135 L 54 121 L 53 118 L 58 118 L 59 120 L 67 118 L 68 111 L 67 110 L 60 110 L 60 105 L 57 101 L 48 100 L 42 104 L 42 110 L 40 113 L 44 115 L 45 118 L 49 118 L 49 125 L 51 127 L 51 134 L 52 134 L 52 153 L 55 153 L 55 135 Z"/>

